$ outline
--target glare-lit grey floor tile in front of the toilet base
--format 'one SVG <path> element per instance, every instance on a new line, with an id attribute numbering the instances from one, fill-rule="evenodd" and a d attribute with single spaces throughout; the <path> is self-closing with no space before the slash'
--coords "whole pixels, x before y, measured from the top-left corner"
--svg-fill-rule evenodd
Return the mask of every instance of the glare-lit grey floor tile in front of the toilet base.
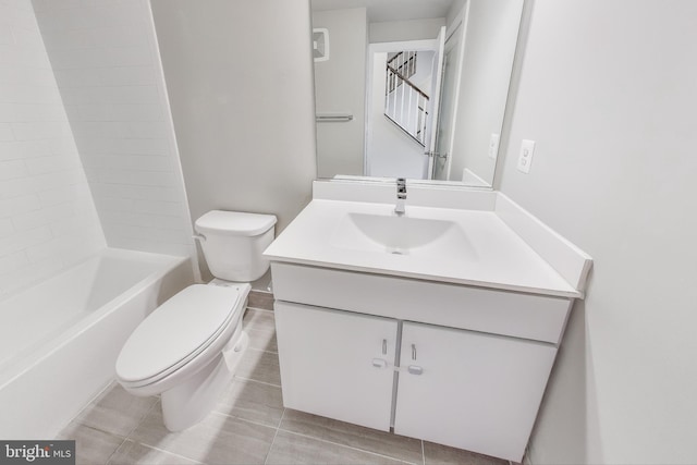
<path id="1" fill-rule="evenodd" d="M 274 433 L 273 428 L 218 413 L 184 431 L 170 432 L 160 408 L 154 408 L 129 439 L 207 465 L 262 464 Z"/>

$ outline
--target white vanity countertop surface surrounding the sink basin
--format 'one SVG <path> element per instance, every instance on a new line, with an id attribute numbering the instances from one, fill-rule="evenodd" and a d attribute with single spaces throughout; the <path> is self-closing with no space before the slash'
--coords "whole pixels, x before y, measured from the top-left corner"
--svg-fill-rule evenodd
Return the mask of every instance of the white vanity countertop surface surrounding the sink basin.
<path id="1" fill-rule="evenodd" d="M 453 254 L 393 255 L 342 246 L 342 222 L 350 212 L 393 215 L 393 204 L 314 199 L 266 249 L 284 261 L 430 281 L 564 297 L 582 297 L 494 211 L 406 207 L 406 217 L 455 222 L 464 246 Z"/>

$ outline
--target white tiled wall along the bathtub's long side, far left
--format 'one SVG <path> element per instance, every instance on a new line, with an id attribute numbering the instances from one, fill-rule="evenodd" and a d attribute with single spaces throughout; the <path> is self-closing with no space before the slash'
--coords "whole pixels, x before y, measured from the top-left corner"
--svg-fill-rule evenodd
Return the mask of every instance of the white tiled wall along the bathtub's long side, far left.
<path id="1" fill-rule="evenodd" d="M 32 3 L 0 2 L 0 298 L 103 246 Z"/>

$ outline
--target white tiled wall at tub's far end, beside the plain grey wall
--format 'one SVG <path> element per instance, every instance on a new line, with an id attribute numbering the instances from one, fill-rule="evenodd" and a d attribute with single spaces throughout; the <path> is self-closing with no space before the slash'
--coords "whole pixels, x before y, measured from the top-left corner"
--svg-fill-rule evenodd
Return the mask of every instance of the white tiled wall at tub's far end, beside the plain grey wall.
<path id="1" fill-rule="evenodd" d="M 193 255 L 148 1 L 33 0 L 33 4 L 108 244 Z M 0 107 L 2 111 L 8 110 Z M 0 139 L 3 134 L 0 126 Z M 38 173 L 62 161 L 59 157 L 8 169 Z"/>

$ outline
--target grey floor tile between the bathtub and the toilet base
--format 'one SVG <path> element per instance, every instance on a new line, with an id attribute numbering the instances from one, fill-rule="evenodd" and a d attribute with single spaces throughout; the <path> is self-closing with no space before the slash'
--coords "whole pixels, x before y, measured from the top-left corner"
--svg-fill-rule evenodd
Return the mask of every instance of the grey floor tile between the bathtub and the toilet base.
<path id="1" fill-rule="evenodd" d="M 113 383 L 75 421 L 125 438 L 157 402 L 157 397 L 138 397 Z"/>

